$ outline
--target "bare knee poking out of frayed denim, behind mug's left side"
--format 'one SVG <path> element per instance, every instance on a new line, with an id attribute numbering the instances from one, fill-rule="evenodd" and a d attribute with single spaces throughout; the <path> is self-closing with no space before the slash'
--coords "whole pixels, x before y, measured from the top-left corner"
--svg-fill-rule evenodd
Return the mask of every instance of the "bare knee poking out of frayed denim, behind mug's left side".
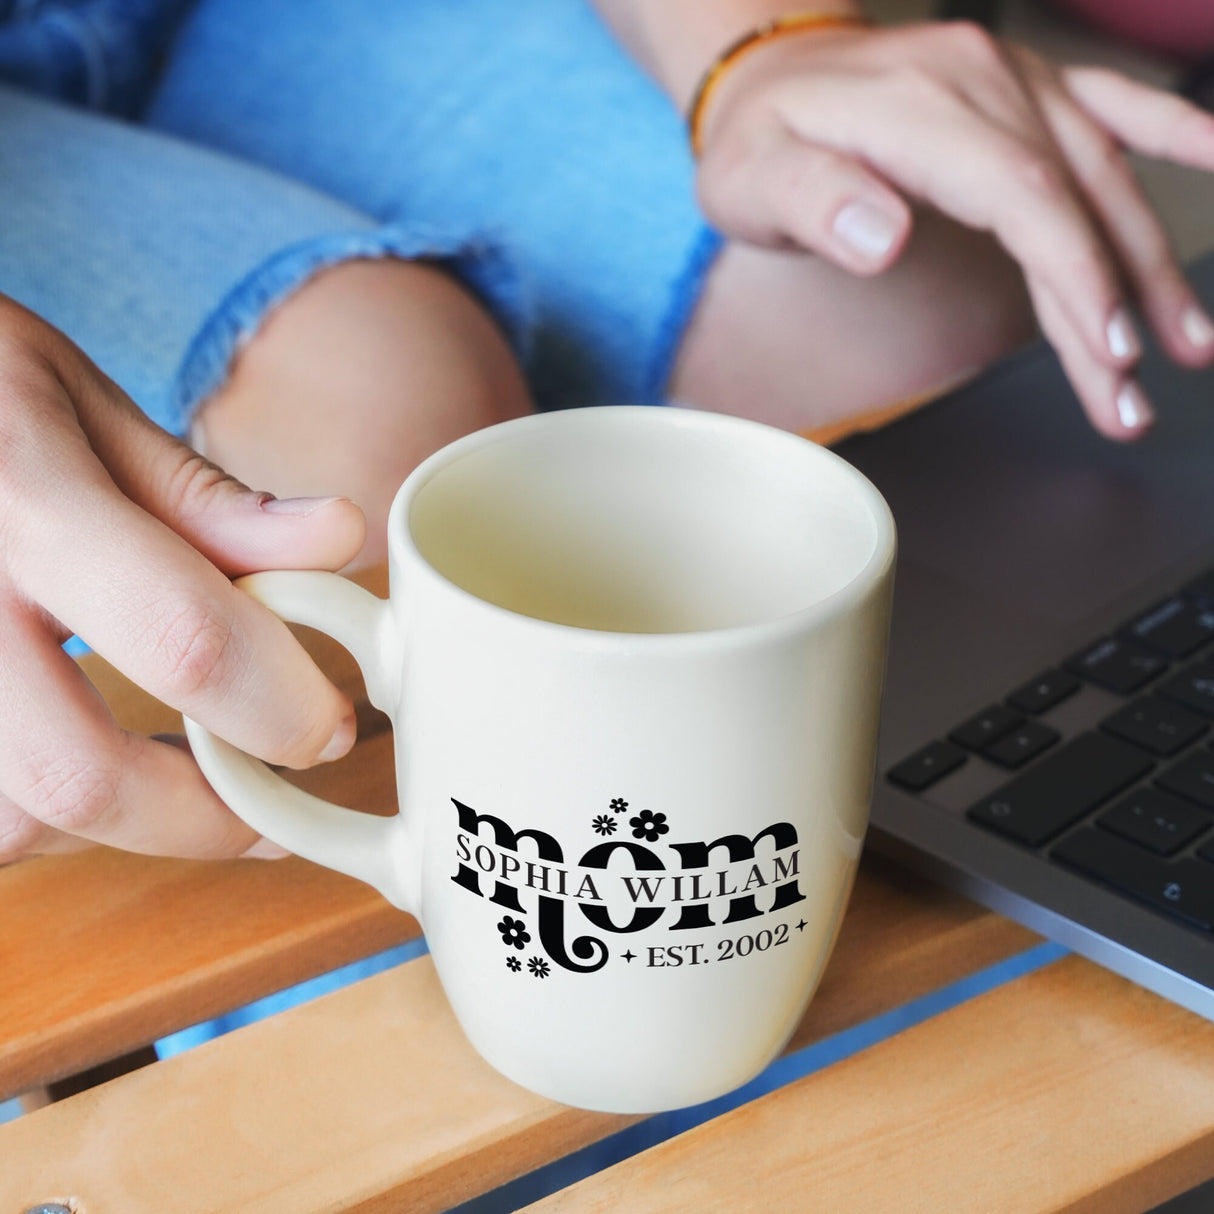
<path id="1" fill-rule="evenodd" d="M 277 497 L 352 498 L 367 565 L 386 555 L 392 497 L 422 459 L 529 410 L 505 340 L 458 283 L 433 266 L 354 261 L 267 318 L 192 437 Z"/>

